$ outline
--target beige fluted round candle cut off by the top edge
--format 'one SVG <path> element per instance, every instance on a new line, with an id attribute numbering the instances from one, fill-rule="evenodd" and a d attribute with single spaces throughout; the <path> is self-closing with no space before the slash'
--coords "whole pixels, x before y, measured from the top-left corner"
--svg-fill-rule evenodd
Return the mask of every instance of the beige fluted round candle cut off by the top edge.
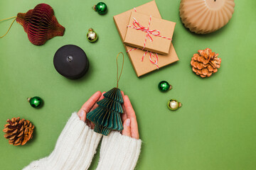
<path id="1" fill-rule="evenodd" d="M 213 33 L 225 26 L 234 13 L 234 0 L 181 0 L 181 21 L 198 34 Z"/>

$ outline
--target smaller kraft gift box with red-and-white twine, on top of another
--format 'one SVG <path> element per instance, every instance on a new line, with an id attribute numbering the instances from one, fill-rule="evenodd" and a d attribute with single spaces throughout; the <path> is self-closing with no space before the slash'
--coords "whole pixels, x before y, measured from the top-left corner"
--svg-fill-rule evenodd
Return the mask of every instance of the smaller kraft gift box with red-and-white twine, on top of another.
<path id="1" fill-rule="evenodd" d="M 168 55 L 176 23 L 133 11 L 124 44 Z"/>

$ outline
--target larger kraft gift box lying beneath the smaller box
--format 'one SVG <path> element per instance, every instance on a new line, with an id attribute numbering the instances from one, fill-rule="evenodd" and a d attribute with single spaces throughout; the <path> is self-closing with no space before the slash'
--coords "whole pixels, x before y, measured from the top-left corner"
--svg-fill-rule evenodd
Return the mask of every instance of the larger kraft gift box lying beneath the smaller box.
<path id="1" fill-rule="evenodd" d="M 129 23 L 129 18 L 131 16 L 132 11 L 137 11 L 148 16 L 151 15 L 155 18 L 161 18 L 155 1 L 150 1 L 149 3 L 146 3 L 142 6 L 138 6 L 129 11 L 114 16 L 114 23 L 117 27 L 122 42 L 124 42 L 124 38 L 127 32 L 127 26 Z M 127 54 L 129 56 L 129 60 L 132 62 L 132 66 L 134 67 L 134 71 L 136 72 L 137 77 L 141 77 L 144 74 L 157 70 L 158 67 L 161 68 L 178 61 L 178 56 L 176 55 L 174 45 L 172 43 L 168 55 L 158 55 L 158 67 L 156 67 L 156 64 L 152 64 L 151 61 L 149 60 L 149 53 L 144 56 L 144 50 L 134 50 L 134 47 L 130 47 L 128 45 L 124 45 L 124 48 L 127 51 L 132 50 L 130 52 L 127 52 Z M 143 56 L 144 60 L 142 62 Z"/>

